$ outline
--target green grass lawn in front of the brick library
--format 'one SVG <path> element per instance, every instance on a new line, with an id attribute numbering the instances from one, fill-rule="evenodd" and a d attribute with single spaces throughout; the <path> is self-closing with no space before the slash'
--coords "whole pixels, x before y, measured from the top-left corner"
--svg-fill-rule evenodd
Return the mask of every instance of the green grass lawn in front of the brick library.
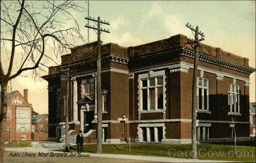
<path id="1" fill-rule="evenodd" d="M 103 144 L 102 150 L 103 153 L 111 154 L 191 158 L 191 145 L 131 144 L 131 153 L 129 153 L 129 144 Z M 199 159 L 255 162 L 255 147 L 253 146 L 237 146 L 237 156 L 234 155 L 235 146 L 233 145 L 198 144 L 198 150 L 200 150 L 198 152 Z M 76 146 L 71 146 L 70 151 L 76 152 Z M 84 144 L 83 152 L 95 153 L 96 144 Z"/>

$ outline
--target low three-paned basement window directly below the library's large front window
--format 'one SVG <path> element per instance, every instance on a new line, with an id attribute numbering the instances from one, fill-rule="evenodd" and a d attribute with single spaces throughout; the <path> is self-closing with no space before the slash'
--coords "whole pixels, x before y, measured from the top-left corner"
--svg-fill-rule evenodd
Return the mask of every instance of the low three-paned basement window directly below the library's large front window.
<path id="1" fill-rule="evenodd" d="M 143 142 L 161 142 L 163 139 L 163 127 L 140 127 Z"/>

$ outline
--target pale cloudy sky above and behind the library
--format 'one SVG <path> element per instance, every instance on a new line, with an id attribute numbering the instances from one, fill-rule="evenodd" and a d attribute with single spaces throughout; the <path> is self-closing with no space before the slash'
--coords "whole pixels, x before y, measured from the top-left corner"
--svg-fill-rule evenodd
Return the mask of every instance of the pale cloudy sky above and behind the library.
<path id="1" fill-rule="evenodd" d="M 44 1 L 41 1 L 44 2 Z M 87 9 L 87 1 L 79 1 Z M 144 43 L 183 34 L 193 38 L 185 24 L 198 26 L 204 32 L 202 42 L 209 46 L 249 58 L 249 66 L 255 68 L 255 1 L 89 1 L 90 16 L 110 23 L 102 25 L 110 34 L 102 33 L 104 43 L 117 43 L 120 46 L 137 46 Z M 87 40 L 87 11 L 73 12 L 81 34 Z M 91 24 L 91 22 L 90 22 Z M 67 23 L 67 28 L 74 26 Z M 89 42 L 96 41 L 96 33 L 90 29 Z M 83 42 L 77 42 L 81 45 Z M 2 49 L 1 49 L 2 50 Z M 47 49 L 47 51 L 50 51 Z M 1 56 L 2 57 L 2 56 Z M 56 59 L 60 63 L 60 57 Z M 49 65 L 54 66 L 54 65 Z M 25 73 L 28 74 L 28 73 Z M 47 72 L 41 72 L 41 76 Z M 24 76 L 24 75 L 23 75 Z M 255 72 L 250 75 L 250 102 L 255 102 Z M 47 81 L 37 77 L 17 77 L 12 80 L 12 90 L 29 89 L 29 102 L 40 114 L 48 113 Z"/>

